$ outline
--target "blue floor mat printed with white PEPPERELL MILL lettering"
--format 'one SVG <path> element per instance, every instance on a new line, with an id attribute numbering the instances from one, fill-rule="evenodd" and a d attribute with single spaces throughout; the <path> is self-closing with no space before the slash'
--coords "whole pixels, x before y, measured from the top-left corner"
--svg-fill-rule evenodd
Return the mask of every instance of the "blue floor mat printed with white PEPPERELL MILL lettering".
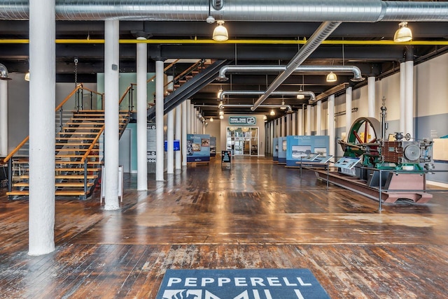
<path id="1" fill-rule="evenodd" d="M 156 299 L 330 298 L 308 269 L 168 269 Z"/>

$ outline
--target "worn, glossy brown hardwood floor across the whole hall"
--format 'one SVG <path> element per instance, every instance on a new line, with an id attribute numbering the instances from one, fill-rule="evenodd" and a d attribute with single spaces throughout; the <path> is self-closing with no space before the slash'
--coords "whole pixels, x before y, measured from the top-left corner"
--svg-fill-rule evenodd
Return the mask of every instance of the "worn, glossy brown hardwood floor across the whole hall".
<path id="1" fill-rule="evenodd" d="M 383 205 L 314 173 L 237 158 L 128 175 L 118 211 L 57 200 L 56 250 L 28 256 L 27 200 L 0 197 L 0 298 L 155 298 L 167 269 L 309 268 L 331 298 L 446 298 L 448 200 Z"/>

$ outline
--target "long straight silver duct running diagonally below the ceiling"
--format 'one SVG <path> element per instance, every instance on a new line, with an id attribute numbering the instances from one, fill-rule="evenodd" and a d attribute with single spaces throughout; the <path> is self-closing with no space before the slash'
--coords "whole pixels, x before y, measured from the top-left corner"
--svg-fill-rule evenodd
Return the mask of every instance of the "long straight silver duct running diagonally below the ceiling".
<path id="1" fill-rule="evenodd" d="M 300 66 L 302 62 L 311 55 L 314 50 L 318 48 L 319 45 L 321 45 L 322 41 L 325 41 L 325 38 L 330 36 L 332 34 L 332 31 L 335 31 L 335 29 L 341 24 L 341 22 L 323 22 L 321 26 L 318 27 L 318 29 L 314 32 L 314 34 L 309 38 L 309 41 L 304 44 L 302 49 L 295 54 L 293 59 L 289 62 L 288 66 L 286 66 L 286 70 L 283 71 L 280 75 L 275 78 L 275 80 L 267 87 L 267 90 L 265 94 L 262 94 L 260 98 L 253 103 L 253 107 L 251 108 L 251 111 L 254 111 L 262 102 L 267 99 L 272 92 L 274 92 L 275 89 L 277 89 L 283 81 L 286 80 L 294 71 L 295 68 Z"/>

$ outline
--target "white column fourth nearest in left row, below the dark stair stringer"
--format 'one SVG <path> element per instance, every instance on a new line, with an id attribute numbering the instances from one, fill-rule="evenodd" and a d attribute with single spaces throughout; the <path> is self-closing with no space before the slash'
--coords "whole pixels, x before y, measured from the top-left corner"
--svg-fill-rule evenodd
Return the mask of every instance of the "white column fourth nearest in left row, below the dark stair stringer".
<path id="1" fill-rule="evenodd" d="M 165 152 L 163 149 L 163 110 L 164 110 L 164 78 L 163 61 L 155 61 L 155 180 L 163 182 L 163 164 Z"/>

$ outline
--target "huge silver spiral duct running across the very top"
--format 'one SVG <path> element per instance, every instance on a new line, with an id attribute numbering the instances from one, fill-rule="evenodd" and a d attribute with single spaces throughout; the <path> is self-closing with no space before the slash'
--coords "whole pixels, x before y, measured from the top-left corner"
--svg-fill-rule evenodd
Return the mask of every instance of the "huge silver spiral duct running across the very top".
<path id="1" fill-rule="evenodd" d="M 204 21 L 210 0 L 56 0 L 56 20 Z M 225 3 L 225 5 L 224 5 Z M 28 20 L 29 1 L 1 0 L 0 20 Z M 448 2 L 212 0 L 217 20 L 253 22 L 447 22 Z"/>

